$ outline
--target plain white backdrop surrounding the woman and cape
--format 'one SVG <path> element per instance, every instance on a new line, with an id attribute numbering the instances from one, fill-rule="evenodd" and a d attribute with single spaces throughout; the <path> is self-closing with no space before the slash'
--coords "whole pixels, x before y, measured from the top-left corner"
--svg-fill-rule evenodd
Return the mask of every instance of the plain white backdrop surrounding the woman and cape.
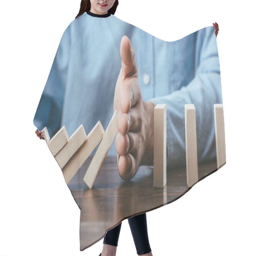
<path id="1" fill-rule="evenodd" d="M 252 1 L 120 0 L 116 16 L 174 41 L 219 23 L 227 164 L 147 213 L 153 255 L 255 255 L 255 31 Z M 80 0 L 1 1 L 0 255 L 80 252 L 80 211 L 33 118 Z M 117 255 L 136 255 L 128 221 Z"/>

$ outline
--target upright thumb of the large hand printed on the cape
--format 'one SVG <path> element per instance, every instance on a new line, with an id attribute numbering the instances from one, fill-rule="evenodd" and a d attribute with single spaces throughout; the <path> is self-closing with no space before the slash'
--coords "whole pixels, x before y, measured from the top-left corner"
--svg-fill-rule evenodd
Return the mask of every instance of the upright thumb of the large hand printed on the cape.
<path id="1" fill-rule="evenodd" d="M 122 73 L 124 79 L 132 76 L 138 77 L 134 50 L 127 36 L 123 36 L 121 39 L 120 56 L 122 59 Z"/>

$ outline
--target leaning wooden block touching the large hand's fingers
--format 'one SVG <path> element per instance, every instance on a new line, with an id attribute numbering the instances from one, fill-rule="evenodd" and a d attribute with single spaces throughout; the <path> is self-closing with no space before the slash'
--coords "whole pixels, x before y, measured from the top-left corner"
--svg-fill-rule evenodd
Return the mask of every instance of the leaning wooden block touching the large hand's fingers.
<path id="1" fill-rule="evenodd" d="M 96 177 L 100 171 L 100 168 L 108 154 L 108 151 L 116 137 L 116 113 L 117 111 L 115 111 L 114 115 L 112 116 L 106 132 L 103 136 L 103 139 L 101 140 L 100 145 L 97 148 L 97 151 L 93 156 L 92 161 L 87 169 L 87 172 L 85 173 L 84 182 L 90 189 L 92 188 L 93 183 L 96 180 Z"/>

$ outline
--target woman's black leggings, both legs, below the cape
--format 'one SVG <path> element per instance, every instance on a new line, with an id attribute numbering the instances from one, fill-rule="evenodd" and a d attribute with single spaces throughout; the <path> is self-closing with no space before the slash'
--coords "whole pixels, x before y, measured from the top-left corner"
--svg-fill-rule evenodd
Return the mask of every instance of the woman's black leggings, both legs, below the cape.
<path id="1" fill-rule="evenodd" d="M 132 231 L 132 237 L 138 255 L 151 252 L 148 241 L 148 229 L 146 213 L 136 215 L 128 219 Z M 122 222 L 115 228 L 109 230 L 104 237 L 103 244 L 117 246 Z"/>

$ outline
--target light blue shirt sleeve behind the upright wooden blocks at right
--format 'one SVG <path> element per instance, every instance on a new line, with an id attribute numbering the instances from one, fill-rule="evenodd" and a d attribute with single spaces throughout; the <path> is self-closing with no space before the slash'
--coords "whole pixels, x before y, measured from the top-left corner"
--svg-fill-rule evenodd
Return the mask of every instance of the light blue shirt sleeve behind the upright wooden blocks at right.
<path id="1" fill-rule="evenodd" d="M 185 104 L 196 108 L 198 162 L 216 157 L 213 104 L 222 103 L 220 64 L 214 28 L 197 32 L 195 77 L 180 90 L 149 101 L 167 106 L 167 166 L 186 163 Z M 194 67 L 191 67 L 194 68 Z"/>

